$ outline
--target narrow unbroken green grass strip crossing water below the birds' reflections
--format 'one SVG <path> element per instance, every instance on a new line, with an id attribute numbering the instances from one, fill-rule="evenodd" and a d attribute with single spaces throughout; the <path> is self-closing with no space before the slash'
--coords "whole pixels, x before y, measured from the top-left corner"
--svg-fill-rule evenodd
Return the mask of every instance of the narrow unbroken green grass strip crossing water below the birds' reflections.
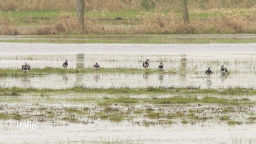
<path id="1" fill-rule="evenodd" d="M 0 85 L 1 86 L 1 85 Z M 220 89 L 200 89 L 195 85 L 187 85 L 184 87 L 165 85 L 161 87 L 147 86 L 146 88 L 129 88 L 129 87 L 110 87 L 110 88 L 88 88 L 85 85 L 74 85 L 72 88 L 65 89 L 37 89 L 33 87 L 19 88 L 1 86 L 0 95 L 18 96 L 23 93 L 93 93 L 93 94 L 219 94 L 219 95 L 254 95 L 256 90 L 253 88 L 245 88 L 242 86 L 230 86 Z M 167 101 L 167 100 L 164 100 Z M 210 102 L 209 102 L 210 103 Z"/>

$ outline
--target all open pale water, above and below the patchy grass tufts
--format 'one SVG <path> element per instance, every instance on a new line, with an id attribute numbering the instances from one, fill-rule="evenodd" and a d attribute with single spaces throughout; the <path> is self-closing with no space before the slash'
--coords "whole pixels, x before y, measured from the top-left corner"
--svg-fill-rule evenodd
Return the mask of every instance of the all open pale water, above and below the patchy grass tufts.
<path id="1" fill-rule="evenodd" d="M 101 67 L 142 68 L 142 62 L 149 58 L 151 69 L 159 62 L 166 70 L 177 74 L 123 74 L 123 73 L 79 73 L 46 74 L 44 76 L 0 77 L 0 85 L 6 87 L 35 87 L 61 89 L 84 85 L 91 88 L 186 86 L 201 88 L 222 88 L 229 86 L 256 87 L 256 45 L 255 44 L 207 44 L 207 45 L 137 45 L 137 44 L 18 44 L 0 43 L 0 68 L 19 68 L 23 63 L 35 67 L 61 67 L 64 59 L 69 68 L 77 67 L 77 54 L 85 54 L 83 66 L 92 67 L 98 62 Z M 224 64 L 230 73 L 222 76 L 220 66 Z M 210 79 L 205 70 L 211 67 Z M 102 96 L 102 95 L 101 95 Z M 161 97 L 161 96 L 160 96 Z M 9 105 L 9 101 L 1 104 Z M 33 99 L 35 100 L 35 99 Z M 55 101 L 54 101 L 55 102 Z M 27 102 L 20 99 L 18 104 Z M 48 102 L 46 102 L 47 104 Z M 75 105 L 71 104 L 71 105 Z M 15 105 L 14 105 L 15 106 Z M 49 105 L 50 107 L 50 105 Z M 70 105 L 67 105 L 70 107 Z M 4 111 L 4 110 L 1 110 Z M 255 113 L 255 110 L 252 111 Z M 47 143 L 158 143 L 158 144 L 231 144 L 255 143 L 255 124 L 228 126 L 217 122 L 141 126 L 130 121 L 111 122 L 96 120 L 80 124 L 56 121 L 37 123 L 39 133 L 17 134 L 16 122 L 0 121 L 1 143 L 47 144 Z"/>

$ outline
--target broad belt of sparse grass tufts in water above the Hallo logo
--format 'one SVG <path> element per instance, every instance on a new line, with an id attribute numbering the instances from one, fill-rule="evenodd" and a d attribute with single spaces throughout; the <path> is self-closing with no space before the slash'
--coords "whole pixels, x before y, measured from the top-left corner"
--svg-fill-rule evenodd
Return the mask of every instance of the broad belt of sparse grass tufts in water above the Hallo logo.
<path id="1" fill-rule="evenodd" d="M 33 97 L 38 97 L 40 93 L 33 95 Z M 50 99 L 39 96 L 39 99 L 44 103 L 49 103 L 52 99 L 55 99 L 56 96 Z M 255 105 L 255 101 L 249 99 L 239 100 L 236 98 L 228 99 L 201 96 L 200 98 L 187 97 L 185 95 L 183 97 L 170 98 L 131 98 L 128 95 L 118 96 L 115 94 L 113 97 L 105 96 L 98 99 L 87 97 L 69 98 L 69 96 L 67 96 L 61 99 L 57 98 L 59 103 L 73 103 L 73 106 L 53 106 L 49 108 L 45 104 L 33 104 L 32 108 L 22 110 L 24 106 L 17 105 L 13 109 L 14 112 L 11 114 L 0 112 L 0 119 L 26 120 L 36 118 L 39 122 L 59 120 L 74 123 L 81 122 L 83 124 L 88 124 L 89 121 L 93 123 L 93 121 L 97 119 L 112 122 L 127 120 L 142 126 L 171 125 L 174 123 L 195 124 L 200 121 L 225 121 L 229 125 L 241 125 L 243 122 L 255 123 L 255 113 L 253 113 L 250 108 L 252 105 Z M 11 103 L 16 103 L 14 98 L 11 99 L 13 99 Z M 16 101 L 22 103 L 19 100 Z M 91 102 L 95 106 L 92 107 Z M 85 106 L 76 107 L 74 103 L 89 103 L 89 105 L 86 104 Z M 6 108 L 6 105 L 0 105 L 0 111 L 4 108 Z M 8 108 L 10 112 L 13 111 L 12 108 L 13 107 Z M 25 113 L 16 112 L 15 109 L 17 108 L 21 108 L 20 111 L 25 111 Z M 37 114 L 33 115 L 30 112 Z M 40 113 L 39 115 L 38 112 Z M 210 112 L 210 115 L 206 115 L 208 112 Z M 231 119 L 231 116 L 232 118 L 239 117 L 241 112 L 248 116 L 243 116 L 243 120 L 239 119 L 234 121 Z M 134 118 L 146 118 L 147 120 L 134 121 Z"/>

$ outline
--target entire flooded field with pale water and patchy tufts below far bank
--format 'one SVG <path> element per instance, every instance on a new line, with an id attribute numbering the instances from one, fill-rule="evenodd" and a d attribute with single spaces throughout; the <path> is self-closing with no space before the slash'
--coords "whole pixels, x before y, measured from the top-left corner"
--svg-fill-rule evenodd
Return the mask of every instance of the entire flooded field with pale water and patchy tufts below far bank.
<path id="1" fill-rule="evenodd" d="M 32 67 L 24 76 L 0 76 L 1 88 L 61 90 L 86 88 L 188 87 L 202 90 L 243 87 L 256 89 L 255 44 L 137 45 L 137 44 L 17 44 L 0 43 L 0 68 L 18 71 Z M 77 54 L 84 54 L 79 59 Z M 88 73 L 32 75 L 33 68 L 102 69 Z M 150 70 L 104 72 L 104 68 Z M 160 62 L 165 71 L 157 71 Z M 227 67 L 222 75 L 220 66 Z M 210 67 L 212 74 L 205 74 Z M 21 71 L 21 70 L 20 70 Z M 172 73 L 168 73 L 172 72 Z M 154 100 L 187 98 L 193 103 L 159 104 Z M 204 103 L 214 98 L 229 102 Z M 128 102 L 115 103 L 111 99 Z M 109 101 L 108 101 L 109 100 Z M 0 144 L 121 143 L 121 144 L 253 144 L 256 143 L 255 95 L 217 94 L 107 94 L 30 92 L 0 96 Z M 130 103 L 129 103 L 130 102 Z M 24 118 L 25 117 L 25 118 Z M 17 122 L 36 124 L 20 131 Z M 15 131 L 16 130 L 16 131 Z M 17 131 L 19 130 L 19 131 Z"/>

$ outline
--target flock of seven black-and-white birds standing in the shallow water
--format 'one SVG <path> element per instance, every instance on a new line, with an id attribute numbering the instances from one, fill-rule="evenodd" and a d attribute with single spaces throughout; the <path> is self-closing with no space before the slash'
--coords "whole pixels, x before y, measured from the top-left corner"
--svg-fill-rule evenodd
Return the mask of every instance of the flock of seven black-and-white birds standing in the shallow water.
<path id="1" fill-rule="evenodd" d="M 149 67 L 149 61 L 150 61 L 149 59 L 146 59 L 146 61 L 143 62 L 142 67 L 144 67 L 145 69 L 146 69 L 147 67 Z M 67 68 L 67 67 L 68 67 L 68 60 L 67 60 L 67 59 L 65 59 L 65 62 L 62 64 L 62 67 L 64 67 L 64 68 Z M 100 65 L 99 65 L 98 63 L 95 63 L 95 64 L 93 65 L 93 68 L 94 68 L 95 70 L 99 70 L 99 69 L 100 69 Z M 31 70 L 31 67 L 30 67 L 29 64 L 25 63 L 24 65 L 22 65 L 21 69 L 22 69 L 23 72 L 28 72 L 29 70 Z M 160 62 L 159 66 L 158 66 L 158 70 L 159 70 L 159 71 L 163 71 L 163 70 L 164 70 L 164 63 Z M 224 67 L 224 65 L 222 65 L 222 66 L 220 67 L 220 72 L 225 75 L 225 74 L 227 74 L 228 70 L 227 70 L 226 67 Z M 211 71 L 211 69 L 210 69 L 210 67 L 209 67 L 209 68 L 206 70 L 206 75 L 207 75 L 208 77 L 210 77 L 211 74 L 212 74 L 212 71 Z"/>

